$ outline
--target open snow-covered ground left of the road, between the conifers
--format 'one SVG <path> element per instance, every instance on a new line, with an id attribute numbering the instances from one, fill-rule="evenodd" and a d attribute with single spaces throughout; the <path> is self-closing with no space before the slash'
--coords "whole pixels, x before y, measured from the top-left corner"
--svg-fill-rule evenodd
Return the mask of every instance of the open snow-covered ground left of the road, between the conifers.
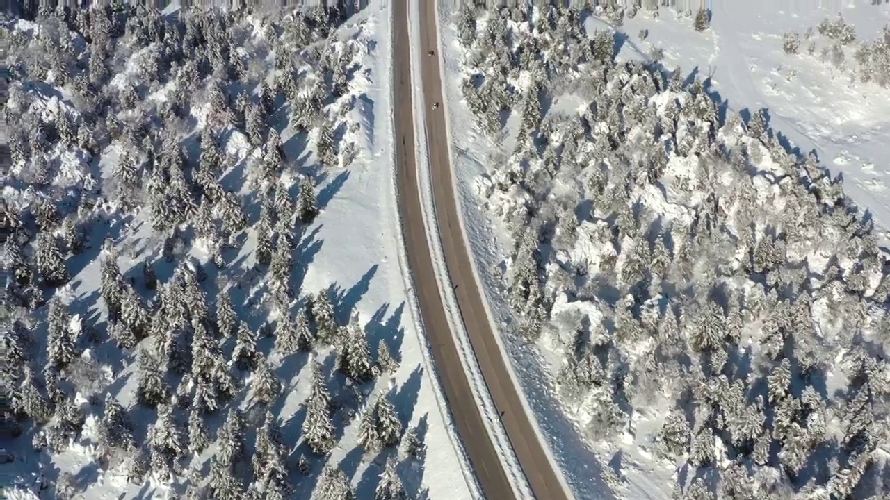
<path id="1" fill-rule="evenodd" d="M 312 226 L 305 231 L 306 238 L 298 243 L 295 262 L 302 264 L 300 276 L 303 294 L 333 286 L 338 297 L 338 315 L 346 315 L 340 320 L 348 319 L 350 310 L 359 314 L 360 324 L 368 332 L 372 346 L 380 339 L 385 339 L 397 359 L 401 359 L 398 371 L 389 376 L 381 376 L 375 383 L 369 384 L 368 391 L 374 394 L 389 393 L 392 402 L 401 417 L 403 428 L 419 426 L 427 446 L 425 459 L 421 463 L 405 462 L 400 465 L 401 475 L 412 496 L 430 498 L 454 498 L 468 500 L 478 497 L 475 492 L 472 472 L 469 470 L 465 456 L 454 438 L 452 423 L 449 421 L 447 408 L 438 381 L 433 374 L 434 369 L 428 352 L 425 338 L 417 322 L 415 299 L 410 294 L 410 285 L 403 272 L 403 248 L 401 247 L 401 230 L 398 223 L 398 210 L 394 197 L 394 148 L 392 140 L 392 16 L 391 7 L 386 0 L 372 0 L 367 7 L 346 21 L 339 28 L 339 39 L 349 40 L 360 49 L 360 69 L 354 74 L 350 93 L 331 105 L 331 110 L 340 106 L 350 109 L 344 117 L 346 124 L 358 123 L 360 127 L 344 134 L 344 143 L 354 141 L 359 151 L 358 157 L 345 168 L 334 168 L 320 176 L 318 185 L 322 211 Z M 28 28 L 28 23 L 20 23 L 20 27 Z M 64 105 L 64 101 L 48 101 L 50 106 Z M 60 104 L 62 102 L 62 104 Z M 198 117 L 198 126 L 202 122 Z M 312 165 L 316 160 L 312 153 L 304 156 L 301 146 L 295 144 L 294 131 L 289 127 L 281 133 L 285 144 L 288 168 L 296 173 L 296 165 Z M 303 145 L 306 152 L 308 145 Z M 233 156 L 244 159 L 257 155 L 252 151 L 243 134 L 231 133 L 225 148 Z M 105 156 L 103 156 L 104 158 Z M 102 165 L 105 165 L 103 161 Z M 108 172 L 101 177 L 108 178 Z M 287 174 L 286 174 L 287 177 Z M 16 198 L 19 193 L 13 187 L 4 187 L 4 197 Z M 241 186 L 241 195 L 250 195 L 247 184 Z M 249 209 L 250 207 L 248 207 Z M 134 266 L 145 258 L 154 259 L 158 255 L 158 239 L 151 235 L 148 223 L 143 223 L 142 216 L 123 222 L 114 214 L 109 215 L 111 234 L 117 234 L 115 246 L 119 249 L 121 271 L 134 273 Z M 241 246 L 239 254 L 231 259 L 227 270 L 217 275 L 208 255 L 199 248 L 190 251 L 190 256 L 201 262 L 210 274 L 207 283 L 220 288 L 223 283 L 244 285 L 244 289 L 233 293 L 236 304 L 242 302 L 246 306 L 239 310 L 239 315 L 247 319 L 251 327 L 259 327 L 264 318 L 262 283 L 243 280 L 249 276 L 248 269 L 254 258 L 251 256 L 255 247 L 254 232 L 248 231 L 250 237 Z M 93 241 L 98 246 L 101 241 Z M 91 253 L 92 254 L 92 253 Z M 95 255 L 95 254 L 93 254 Z M 398 257 L 397 257 L 398 256 Z M 247 262 L 250 262 L 249 264 Z M 166 271 L 158 271 L 163 280 Z M 69 286 L 60 290 L 64 299 L 76 304 L 77 312 L 86 316 L 98 314 L 100 262 L 91 259 L 79 266 Z M 214 300 L 214 286 L 208 286 L 208 300 Z M 234 290 L 234 288 L 233 288 Z M 243 301 L 241 300 L 243 299 Z M 259 302 L 259 303 L 257 303 Z M 93 321 L 100 325 L 104 319 L 96 316 Z M 271 344 L 261 341 L 265 351 Z M 105 346 L 100 356 L 114 355 L 114 349 Z M 333 363 L 332 354 L 322 351 L 320 361 L 326 367 Z M 126 361 L 131 359 L 124 359 Z M 101 364 L 120 366 L 117 359 L 98 359 Z M 301 410 L 306 399 L 311 381 L 310 363 L 306 355 L 299 354 L 283 360 L 276 354 L 270 356 L 271 365 L 275 368 L 285 391 L 280 397 L 276 408 L 276 416 L 285 430 L 284 438 L 288 448 L 295 448 L 300 439 L 300 425 L 304 412 Z M 283 361 L 283 362 L 282 362 Z M 109 374 L 104 383 L 111 395 L 125 406 L 134 405 L 136 377 L 130 376 L 132 367 L 124 367 L 117 373 Z M 340 391 L 337 388 L 335 392 Z M 235 399 L 247 405 L 247 398 Z M 129 498 L 162 495 L 165 488 L 152 486 L 137 487 L 129 484 L 124 478 L 112 471 L 102 471 L 94 462 L 91 453 L 91 440 L 95 439 L 88 420 L 84 436 L 79 443 L 68 451 L 58 455 L 36 454 L 29 450 L 29 435 L 26 434 L 13 444 L 15 450 L 16 472 L 22 479 L 37 473 L 37 467 L 44 471 L 48 480 L 54 480 L 63 472 L 70 472 L 77 478 L 80 491 L 89 498 Z M 383 471 L 382 464 L 370 462 L 357 446 L 359 420 L 348 424 L 342 438 L 334 451 L 321 462 L 337 465 L 352 481 L 359 498 L 373 496 L 377 476 Z M 93 432 L 93 433 L 91 433 Z M 298 456 L 290 457 L 290 461 Z M 198 464 L 193 463 L 193 466 Z M 206 464 L 205 464 L 206 465 Z M 290 464 L 294 467 L 295 464 Z M 314 476 L 318 475 L 323 464 L 313 464 Z M 206 472 L 206 469 L 205 469 Z M 297 496 L 309 498 L 313 495 L 312 483 L 308 479 L 299 479 L 294 472 L 293 478 Z M 313 477 L 314 477 L 313 476 Z M 302 482 L 301 482 L 302 481 Z M 182 489 L 169 492 L 173 496 L 182 497 Z"/>

